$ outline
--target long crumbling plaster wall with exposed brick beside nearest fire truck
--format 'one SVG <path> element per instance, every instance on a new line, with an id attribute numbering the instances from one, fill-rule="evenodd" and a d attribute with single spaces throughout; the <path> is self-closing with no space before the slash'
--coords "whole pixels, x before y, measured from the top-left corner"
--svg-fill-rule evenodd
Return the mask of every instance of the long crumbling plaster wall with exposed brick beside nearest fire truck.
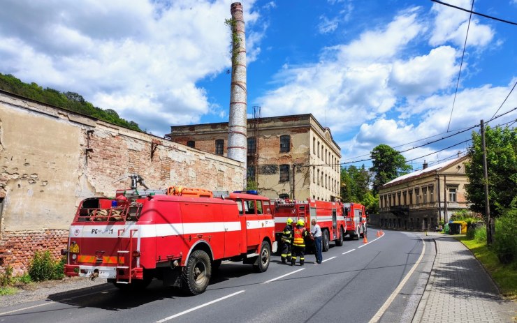
<path id="1" fill-rule="evenodd" d="M 80 200 L 150 188 L 240 190 L 242 163 L 0 91 L 0 269 L 59 256 Z M 117 181 L 118 180 L 118 181 Z"/>

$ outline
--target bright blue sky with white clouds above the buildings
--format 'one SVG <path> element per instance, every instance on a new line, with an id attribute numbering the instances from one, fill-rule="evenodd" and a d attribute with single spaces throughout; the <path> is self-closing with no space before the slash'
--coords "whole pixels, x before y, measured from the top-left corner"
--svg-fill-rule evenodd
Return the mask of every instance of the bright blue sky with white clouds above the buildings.
<path id="1" fill-rule="evenodd" d="M 231 2 L 3 0 L 0 73 L 78 92 L 154 135 L 227 121 Z M 453 107 L 469 13 L 425 0 L 242 6 L 248 114 L 314 114 L 343 162 L 367 159 L 378 144 L 402 151 L 453 135 L 496 112 L 509 113 L 491 126 L 516 120 L 517 89 L 504 102 L 517 82 L 514 24 L 472 15 Z M 517 0 L 476 0 L 474 11 L 517 22 Z M 451 146 L 469 137 L 403 155 L 418 169 L 465 151 L 468 142 Z"/>

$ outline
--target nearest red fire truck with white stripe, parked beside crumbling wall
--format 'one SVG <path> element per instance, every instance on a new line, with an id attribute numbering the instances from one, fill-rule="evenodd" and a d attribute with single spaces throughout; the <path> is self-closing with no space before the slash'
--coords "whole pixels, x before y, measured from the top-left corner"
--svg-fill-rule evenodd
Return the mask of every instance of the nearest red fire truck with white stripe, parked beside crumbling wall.
<path id="1" fill-rule="evenodd" d="M 152 278 L 201 294 L 222 260 L 268 269 L 277 249 L 272 204 L 249 193 L 150 190 L 140 176 L 115 199 L 80 202 L 68 236 L 66 276 L 106 278 L 121 289 Z M 146 189 L 139 190 L 136 184 Z"/>

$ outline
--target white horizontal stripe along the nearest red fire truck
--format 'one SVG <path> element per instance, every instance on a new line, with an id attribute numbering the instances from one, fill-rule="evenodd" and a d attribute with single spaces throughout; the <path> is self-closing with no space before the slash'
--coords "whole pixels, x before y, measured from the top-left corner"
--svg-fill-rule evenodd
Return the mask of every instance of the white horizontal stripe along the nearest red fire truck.
<path id="1" fill-rule="evenodd" d="M 272 220 L 246 221 L 247 229 L 260 229 L 263 227 L 275 227 Z M 124 231 L 122 231 L 124 230 Z M 152 238 L 156 236 L 175 236 L 180 234 L 204 234 L 212 232 L 240 231 L 240 222 L 206 222 L 206 223 L 169 223 L 157 225 L 73 225 L 68 234 L 71 238 L 117 238 L 120 236 L 129 238 L 130 230 L 138 230 L 140 238 Z"/>

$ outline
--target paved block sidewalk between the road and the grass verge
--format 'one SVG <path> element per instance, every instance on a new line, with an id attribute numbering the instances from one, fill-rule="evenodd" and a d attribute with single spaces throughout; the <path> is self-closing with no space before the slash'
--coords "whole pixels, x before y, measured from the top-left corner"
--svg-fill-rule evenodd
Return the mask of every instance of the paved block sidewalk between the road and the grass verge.
<path id="1" fill-rule="evenodd" d="M 460 241 L 428 232 L 437 246 L 428 285 L 413 322 L 517 322 L 517 306 Z"/>

